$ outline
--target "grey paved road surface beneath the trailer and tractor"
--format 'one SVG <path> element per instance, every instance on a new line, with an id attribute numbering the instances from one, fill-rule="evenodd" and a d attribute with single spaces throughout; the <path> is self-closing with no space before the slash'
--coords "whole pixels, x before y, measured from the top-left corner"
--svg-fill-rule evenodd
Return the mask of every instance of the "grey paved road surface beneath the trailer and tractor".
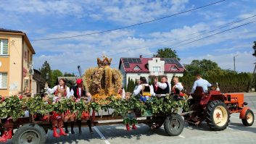
<path id="1" fill-rule="evenodd" d="M 256 93 L 245 93 L 244 101 L 256 112 Z M 256 115 L 256 114 L 255 114 Z M 137 130 L 126 131 L 123 124 L 94 127 L 91 135 L 87 127 L 83 127 L 83 135 L 69 135 L 67 137 L 54 138 L 52 131 L 47 133 L 47 144 L 50 143 L 204 143 L 204 144 L 241 144 L 256 143 L 256 120 L 251 127 L 244 127 L 239 119 L 239 114 L 231 114 L 231 122 L 223 131 L 211 131 L 206 122 L 198 127 L 185 124 L 181 135 L 171 137 L 165 133 L 163 126 L 158 130 L 150 130 L 146 124 L 138 124 Z M 78 133 L 78 128 L 75 128 Z M 10 140 L 8 143 L 11 143 Z"/>

